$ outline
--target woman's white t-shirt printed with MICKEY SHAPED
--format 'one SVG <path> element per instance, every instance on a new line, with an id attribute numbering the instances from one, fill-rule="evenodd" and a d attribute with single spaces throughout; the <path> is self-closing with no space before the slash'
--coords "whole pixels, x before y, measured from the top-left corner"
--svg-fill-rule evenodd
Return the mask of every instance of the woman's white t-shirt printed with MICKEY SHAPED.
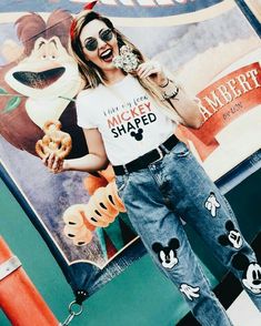
<path id="1" fill-rule="evenodd" d="M 164 142 L 175 123 L 128 74 L 120 82 L 83 90 L 77 98 L 78 125 L 98 129 L 112 165 L 126 164 Z"/>

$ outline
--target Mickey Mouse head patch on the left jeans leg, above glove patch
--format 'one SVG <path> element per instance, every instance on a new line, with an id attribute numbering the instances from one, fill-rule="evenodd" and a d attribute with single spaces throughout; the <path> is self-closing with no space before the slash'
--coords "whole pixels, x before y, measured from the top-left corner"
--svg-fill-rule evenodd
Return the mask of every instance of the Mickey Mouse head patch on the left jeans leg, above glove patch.
<path id="1" fill-rule="evenodd" d="M 174 267 L 179 263 L 177 257 L 177 249 L 179 247 L 180 242 L 175 237 L 171 238 L 165 247 L 158 242 L 152 245 L 152 249 L 158 254 L 161 265 L 168 269 Z"/>

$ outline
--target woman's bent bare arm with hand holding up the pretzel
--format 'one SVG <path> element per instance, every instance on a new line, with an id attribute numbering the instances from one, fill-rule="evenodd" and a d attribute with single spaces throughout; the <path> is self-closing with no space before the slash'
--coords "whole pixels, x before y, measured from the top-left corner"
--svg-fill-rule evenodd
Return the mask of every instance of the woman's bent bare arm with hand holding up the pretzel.
<path id="1" fill-rule="evenodd" d="M 86 129 L 83 130 L 89 154 L 70 160 L 59 160 L 54 155 L 47 156 L 43 159 L 43 163 L 53 173 L 59 173 L 62 171 L 84 171 L 84 172 L 96 172 L 104 170 L 108 164 L 108 157 L 106 154 L 104 144 L 98 129 Z"/>

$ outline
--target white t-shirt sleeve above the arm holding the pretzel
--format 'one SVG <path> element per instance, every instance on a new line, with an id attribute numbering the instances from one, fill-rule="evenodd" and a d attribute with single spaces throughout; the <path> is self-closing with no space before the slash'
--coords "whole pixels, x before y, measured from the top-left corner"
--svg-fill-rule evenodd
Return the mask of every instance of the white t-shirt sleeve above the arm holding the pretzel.
<path id="1" fill-rule="evenodd" d="M 94 122 L 93 111 L 91 108 L 94 105 L 91 103 L 91 96 L 88 94 L 79 94 L 76 101 L 77 108 L 77 124 L 84 129 L 98 128 Z"/>

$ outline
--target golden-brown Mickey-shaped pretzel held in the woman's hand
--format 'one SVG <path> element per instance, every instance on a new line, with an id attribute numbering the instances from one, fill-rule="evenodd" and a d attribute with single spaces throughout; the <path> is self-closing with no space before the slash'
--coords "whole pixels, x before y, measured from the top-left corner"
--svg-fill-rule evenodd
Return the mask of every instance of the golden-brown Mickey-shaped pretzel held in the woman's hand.
<path id="1" fill-rule="evenodd" d="M 72 142 L 69 133 L 60 130 L 60 121 L 47 121 L 43 125 L 46 135 L 36 143 L 36 152 L 44 159 L 47 154 L 54 154 L 63 160 L 71 151 Z"/>

